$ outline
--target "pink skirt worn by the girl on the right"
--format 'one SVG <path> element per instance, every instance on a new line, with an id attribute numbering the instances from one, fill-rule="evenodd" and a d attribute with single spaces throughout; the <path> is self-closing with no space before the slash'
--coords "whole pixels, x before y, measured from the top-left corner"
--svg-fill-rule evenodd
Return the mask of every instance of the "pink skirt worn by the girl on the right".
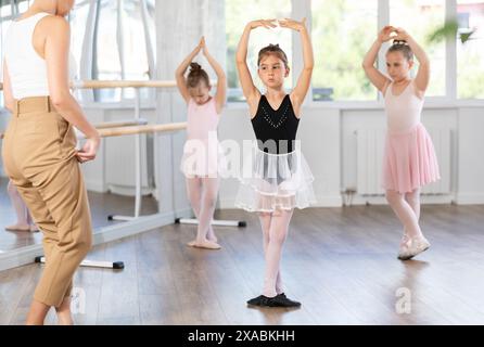
<path id="1" fill-rule="evenodd" d="M 404 132 L 386 133 L 383 188 L 409 193 L 441 178 L 432 140 L 421 123 Z"/>

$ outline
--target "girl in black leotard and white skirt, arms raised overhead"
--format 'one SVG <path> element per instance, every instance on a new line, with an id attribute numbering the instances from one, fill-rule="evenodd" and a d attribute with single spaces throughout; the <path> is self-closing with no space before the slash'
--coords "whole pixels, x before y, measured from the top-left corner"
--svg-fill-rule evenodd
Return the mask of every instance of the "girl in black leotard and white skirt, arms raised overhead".
<path id="1" fill-rule="evenodd" d="M 250 33 L 257 27 L 276 27 L 276 21 L 254 21 L 247 24 L 237 52 L 237 67 L 246 98 L 257 145 L 244 159 L 235 205 L 259 214 L 264 233 L 266 270 L 263 295 L 249 305 L 298 307 L 282 290 L 280 260 L 294 208 L 305 208 L 315 202 L 314 177 L 295 141 L 301 107 L 310 86 L 314 57 L 305 21 L 279 21 L 281 27 L 301 34 L 304 68 L 290 94 L 284 91 L 289 76 L 288 57 L 279 46 L 270 44 L 258 54 L 258 75 L 267 91 L 263 95 L 254 86 L 246 65 Z M 250 169 L 247 169 L 250 168 Z"/>

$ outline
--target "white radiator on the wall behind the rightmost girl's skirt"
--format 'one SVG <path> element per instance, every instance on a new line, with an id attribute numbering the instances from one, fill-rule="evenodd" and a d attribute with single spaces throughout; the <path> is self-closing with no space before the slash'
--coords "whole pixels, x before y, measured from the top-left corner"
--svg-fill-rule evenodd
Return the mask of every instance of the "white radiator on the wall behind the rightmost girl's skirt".
<path id="1" fill-rule="evenodd" d="M 450 193 L 450 129 L 431 127 L 426 129 L 434 143 L 441 180 L 423 188 L 423 194 Z M 383 195 L 382 158 L 385 144 L 385 128 L 367 128 L 356 131 L 357 138 L 357 193 L 360 195 Z"/>

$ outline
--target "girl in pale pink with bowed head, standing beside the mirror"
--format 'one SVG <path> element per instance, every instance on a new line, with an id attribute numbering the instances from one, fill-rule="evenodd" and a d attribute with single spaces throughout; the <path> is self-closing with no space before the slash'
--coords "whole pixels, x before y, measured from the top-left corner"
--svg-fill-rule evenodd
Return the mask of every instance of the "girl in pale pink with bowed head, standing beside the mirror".
<path id="1" fill-rule="evenodd" d="M 211 95 L 208 74 L 201 65 L 194 63 L 202 52 L 217 75 L 217 91 Z M 190 67 L 187 77 L 184 74 Z M 188 127 L 187 142 L 183 147 L 180 169 L 186 177 L 187 193 L 190 204 L 199 220 L 195 240 L 188 243 L 191 247 L 219 249 L 220 245 L 212 228 L 212 220 L 219 188 L 220 157 L 218 152 L 217 126 L 227 94 L 227 77 L 221 65 L 208 53 L 205 38 L 180 63 L 176 73 L 178 90 L 187 102 Z M 211 137 L 215 145 L 211 143 Z M 195 154 L 191 151 L 195 149 Z M 194 165 L 190 165 L 194 159 Z"/>

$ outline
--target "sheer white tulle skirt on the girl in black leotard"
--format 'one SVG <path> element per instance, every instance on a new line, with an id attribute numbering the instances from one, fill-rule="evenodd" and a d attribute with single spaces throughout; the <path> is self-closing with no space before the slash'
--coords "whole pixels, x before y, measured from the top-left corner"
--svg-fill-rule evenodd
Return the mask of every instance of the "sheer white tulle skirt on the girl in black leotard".
<path id="1" fill-rule="evenodd" d="M 270 154 L 256 145 L 244 157 L 235 206 L 247 211 L 306 208 L 316 203 L 315 180 L 301 150 Z"/>

